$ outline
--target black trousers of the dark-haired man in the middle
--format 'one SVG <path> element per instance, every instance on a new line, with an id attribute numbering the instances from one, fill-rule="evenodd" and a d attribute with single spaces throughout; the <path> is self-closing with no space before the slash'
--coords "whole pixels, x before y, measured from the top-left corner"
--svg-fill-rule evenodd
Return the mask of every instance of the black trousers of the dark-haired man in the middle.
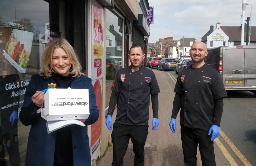
<path id="1" fill-rule="evenodd" d="M 113 162 L 112 166 L 122 166 L 125 152 L 131 138 L 134 152 L 134 166 L 144 165 L 144 145 L 147 140 L 148 125 L 129 126 L 115 122 L 113 124 Z"/>

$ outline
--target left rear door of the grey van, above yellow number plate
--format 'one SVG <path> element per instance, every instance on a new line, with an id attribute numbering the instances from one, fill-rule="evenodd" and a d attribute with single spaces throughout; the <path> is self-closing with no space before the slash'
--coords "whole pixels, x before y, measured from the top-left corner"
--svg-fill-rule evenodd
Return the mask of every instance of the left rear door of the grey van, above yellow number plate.
<path id="1" fill-rule="evenodd" d="M 223 49 L 223 84 L 235 89 L 245 85 L 245 53 L 244 49 Z M 232 88 L 231 88 L 232 89 Z"/>

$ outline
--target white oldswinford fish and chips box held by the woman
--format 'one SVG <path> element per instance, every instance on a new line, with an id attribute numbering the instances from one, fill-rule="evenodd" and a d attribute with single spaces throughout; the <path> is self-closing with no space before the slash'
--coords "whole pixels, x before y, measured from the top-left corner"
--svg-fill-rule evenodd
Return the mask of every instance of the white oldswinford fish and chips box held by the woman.
<path id="1" fill-rule="evenodd" d="M 88 89 L 48 89 L 44 95 L 41 117 L 47 121 L 87 119 Z"/>

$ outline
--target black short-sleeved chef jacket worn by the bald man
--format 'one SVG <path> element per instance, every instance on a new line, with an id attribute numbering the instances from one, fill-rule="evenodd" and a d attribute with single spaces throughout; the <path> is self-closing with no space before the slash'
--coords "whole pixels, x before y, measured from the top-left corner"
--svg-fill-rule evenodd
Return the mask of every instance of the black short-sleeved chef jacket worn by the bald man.
<path id="1" fill-rule="evenodd" d="M 214 124 L 213 100 L 227 97 L 220 73 L 208 64 L 181 70 L 174 92 L 180 94 L 180 124 L 205 130 Z"/>

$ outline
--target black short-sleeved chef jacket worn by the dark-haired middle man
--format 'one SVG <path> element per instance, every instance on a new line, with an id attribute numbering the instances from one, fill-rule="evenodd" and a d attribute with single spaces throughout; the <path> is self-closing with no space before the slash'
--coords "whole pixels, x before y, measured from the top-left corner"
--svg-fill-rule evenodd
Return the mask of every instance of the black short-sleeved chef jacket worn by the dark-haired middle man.
<path id="1" fill-rule="evenodd" d="M 143 66 L 132 72 L 131 66 L 118 70 L 111 90 L 119 94 L 116 122 L 147 125 L 150 94 L 160 92 L 155 73 Z"/>

